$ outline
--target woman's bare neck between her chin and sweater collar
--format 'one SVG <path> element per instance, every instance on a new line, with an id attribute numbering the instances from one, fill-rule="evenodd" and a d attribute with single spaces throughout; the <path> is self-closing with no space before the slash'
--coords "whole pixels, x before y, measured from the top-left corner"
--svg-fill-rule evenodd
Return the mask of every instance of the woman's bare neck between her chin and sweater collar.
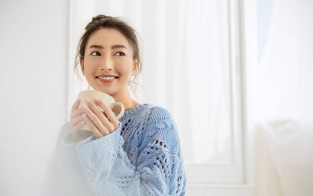
<path id="1" fill-rule="evenodd" d="M 115 102 L 120 102 L 123 104 L 125 111 L 140 105 L 135 100 L 132 100 L 130 98 L 129 93 L 126 89 L 123 91 L 120 91 L 119 93 L 113 94 L 111 96 L 114 98 Z M 119 113 L 120 107 L 114 107 L 112 111 L 114 113 Z"/>

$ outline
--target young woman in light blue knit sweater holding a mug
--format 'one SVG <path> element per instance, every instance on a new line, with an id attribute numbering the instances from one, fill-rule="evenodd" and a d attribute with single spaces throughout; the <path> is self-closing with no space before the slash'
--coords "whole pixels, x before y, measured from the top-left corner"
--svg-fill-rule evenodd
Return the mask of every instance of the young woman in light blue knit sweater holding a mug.
<path id="1" fill-rule="evenodd" d="M 63 185 L 67 193 L 85 186 L 95 195 L 184 195 L 186 175 L 175 122 L 167 110 L 139 104 L 127 90 L 131 76 L 136 79 L 141 71 L 135 30 L 120 18 L 93 17 L 79 42 L 78 63 L 89 85 L 113 96 L 125 113 L 118 120 L 118 111 L 97 99 L 85 108 L 78 108 L 79 100 L 73 104 L 57 147 L 62 154 L 59 167 L 72 172 L 64 180 L 72 181 Z M 84 138 L 78 133 L 85 124 L 94 135 Z M 82 192 L 75 195 L 87 194 Z"/>

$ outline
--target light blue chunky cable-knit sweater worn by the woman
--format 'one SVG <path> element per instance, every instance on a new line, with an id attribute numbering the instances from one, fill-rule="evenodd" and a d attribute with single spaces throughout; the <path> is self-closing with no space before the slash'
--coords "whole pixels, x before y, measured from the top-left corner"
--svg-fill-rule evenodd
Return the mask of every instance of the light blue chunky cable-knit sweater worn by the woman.
<path id="1" fill-rule="evenodd" d="M 185 195 L 180 138 L 170 113 L 142 104 L 119 121 L 114 132 L 77 143 L 69 122 L 61 128 L 53 158 L 61 160 L 53 163 L 59 173 L 55 188 L 63 186 L 57 188 L 62 195 Z"/>

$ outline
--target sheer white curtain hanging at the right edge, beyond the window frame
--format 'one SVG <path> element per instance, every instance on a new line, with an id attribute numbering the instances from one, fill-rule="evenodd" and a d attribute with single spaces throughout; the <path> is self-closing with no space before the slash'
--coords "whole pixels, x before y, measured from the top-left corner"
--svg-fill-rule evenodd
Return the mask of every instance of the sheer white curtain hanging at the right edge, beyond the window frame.
<path id="1" fill-rule="evenodd" d="M 313 193 L 313 2 L 274 0 L 256 71 L 258 195 Z"/>

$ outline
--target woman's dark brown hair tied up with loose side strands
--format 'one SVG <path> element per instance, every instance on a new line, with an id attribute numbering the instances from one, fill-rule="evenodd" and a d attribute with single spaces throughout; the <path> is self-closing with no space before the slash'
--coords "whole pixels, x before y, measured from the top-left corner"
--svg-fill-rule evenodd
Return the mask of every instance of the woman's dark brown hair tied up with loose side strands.
<path id="1" fill-rule="evenodd" d="M 136 76 L 132 82 L 134 84 L 139 85 L 137 82 L 135 82 L 135 80 L 138 77 L 138 74 L 140 74 L 142 70 L 142 61 L 140 58 L 141 53 L 140 53 L 140 48 L 139 48 L 139 42 L 136 36 L 138 35 L 138 33 L 135 31 L 135 29 L 130 27 L 129 24 L 127 24 L 127 21 L 125 19 L 121 17 L 110 17 L 110 16 L 105 16 L 105 15 L 94 16 L 92 21 L 89 22 L 87 26 L 85 27 L 85 32 L 79 39 L 79 43 L 77 45 L 76 56 L 75 56 L 75 67 L 74 67 L 74 71 L 76 70 L 76 74 L 78 78 L 80 79 L 76 67 L 78 64 L 80 64 L 80 60 L 84 60 L 85 48 L 86 48 L 88 39 L 90 38 L 92 33 L 103 28 L 113 28 L 113 29 L 120 31 L 130 42 L 130 45 L 132 47 L 132 52 L 133 52 L 132 58 L 134 60 L 139 59 L 139 62 L 137 64 L 138 69 L 136 72 Z M 128 83 L 128 85 L 130 85 L 132 88 L 131 83 Z M 135 93 L 135 90 L 134 90 L 134 93 Z"/>

